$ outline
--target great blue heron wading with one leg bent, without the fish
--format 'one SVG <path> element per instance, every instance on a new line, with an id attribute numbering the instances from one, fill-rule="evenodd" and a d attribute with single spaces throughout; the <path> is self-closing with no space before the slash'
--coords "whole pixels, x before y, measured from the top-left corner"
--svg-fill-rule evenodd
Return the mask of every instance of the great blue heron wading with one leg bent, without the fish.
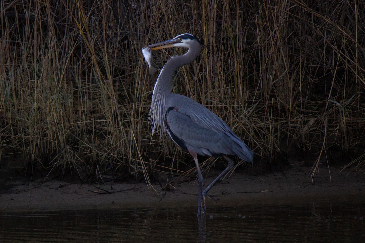
<path id="1" fill-rule="evenodd" d="M 191 34 L 181 34 L 173 39 L 147 46 L 150 50 L 168 47 L 188 48 L 185 54 L 170 57 L 161 69 L 153 88 L 149 115 L 152 133 L 156 129 L 165 130 L 177 145 L 189 151 L 194 158 L 199 182 L 198 216 L 202 210 L 205 213 L 205 196 L 215 201 L 207 195 L 208 191 L 234 165 L 226 155 L 233 154 L 249 162 L 253 157 L 252 150 L 216 114 L 191 98 L 171 94 L 174 71 L 191 63 L 199 55 L 202 44 Z M 227 168 L 204 191 L 197 155 L 223 156 L 228 162 Z"/>

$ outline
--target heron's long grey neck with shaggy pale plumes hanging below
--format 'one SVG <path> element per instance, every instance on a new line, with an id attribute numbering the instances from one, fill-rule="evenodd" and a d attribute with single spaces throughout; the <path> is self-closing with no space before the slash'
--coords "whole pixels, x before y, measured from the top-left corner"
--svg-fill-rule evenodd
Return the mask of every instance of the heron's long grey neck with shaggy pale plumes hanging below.
<path id="1" fill-rule="evenodd" d="M 171 82 L 174 71 L 181 66 L 191 63 L 199 54 L 199 48 L 195 51 L 189 49 L 187 53 L 180 56 L 172 56 L 162 67 L 156 80 L 152 93 L 151 109 L 149 119 L 152 122 L 152 134 L 159 129 L 166 130 L 165 113 L 168 109 L 167 101 L 171 95 Z"/>

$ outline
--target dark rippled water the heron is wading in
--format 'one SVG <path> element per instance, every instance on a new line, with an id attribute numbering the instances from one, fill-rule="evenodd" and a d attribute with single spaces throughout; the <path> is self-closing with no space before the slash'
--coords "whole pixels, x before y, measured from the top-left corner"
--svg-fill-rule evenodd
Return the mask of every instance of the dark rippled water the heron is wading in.
<path id="1" fill-rule="evenodd" d="M 0 242 L 363 242 L 365 204 L 2 213 Z"/>

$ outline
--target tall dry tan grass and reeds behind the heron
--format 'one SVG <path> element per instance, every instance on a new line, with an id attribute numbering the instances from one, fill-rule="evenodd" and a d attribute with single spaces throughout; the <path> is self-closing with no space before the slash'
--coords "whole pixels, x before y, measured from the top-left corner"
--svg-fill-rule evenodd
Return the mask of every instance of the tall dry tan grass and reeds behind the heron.
<path id="1" fill-rule="evenodd" d="M 141 55 L 188 32 L 210 51 L 177 72 L 173 92 L 222 117 L 255 165 L 307 159 L 314 179 L 337 158 L 365 164 L 362 1 L 14 0 L 0 12 L 3 161 L 19 153 L 28 170 L 82 179 L 192 171 L 169 139 L 150 137 L 157 74 Z"/>

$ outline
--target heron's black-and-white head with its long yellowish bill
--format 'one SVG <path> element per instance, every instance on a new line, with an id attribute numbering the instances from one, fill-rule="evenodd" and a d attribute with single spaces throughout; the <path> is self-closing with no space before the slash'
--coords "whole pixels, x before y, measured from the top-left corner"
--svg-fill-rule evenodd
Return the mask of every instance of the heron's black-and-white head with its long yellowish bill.
<path id="1" fill-rule="evenodd" d="M 178 36 L 175 36 L 173 39 L 165 40 L 163 42 L 151 44 L 147 47 L 150 47 L 151 50 L 158 50 L 168 47 L 185 47 L 185 48 L 191 48 L 194 45 L 201 45 L 205 46 L 198 38 L 193 36 L 192 34 L 181 34 Z"/>

